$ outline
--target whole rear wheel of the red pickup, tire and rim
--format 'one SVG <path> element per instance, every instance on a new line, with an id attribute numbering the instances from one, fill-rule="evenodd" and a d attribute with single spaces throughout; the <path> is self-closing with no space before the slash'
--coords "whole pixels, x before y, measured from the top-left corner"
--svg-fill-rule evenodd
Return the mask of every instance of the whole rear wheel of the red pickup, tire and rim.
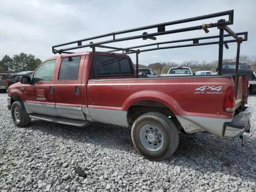
<path id="1" fill-rule="evenodd" d="M 132 125 L 132 142 L 149 160 L 165 160 L 177 149 L 179 133 L 166 115 L 150 112 L 138 117 Z"/>

